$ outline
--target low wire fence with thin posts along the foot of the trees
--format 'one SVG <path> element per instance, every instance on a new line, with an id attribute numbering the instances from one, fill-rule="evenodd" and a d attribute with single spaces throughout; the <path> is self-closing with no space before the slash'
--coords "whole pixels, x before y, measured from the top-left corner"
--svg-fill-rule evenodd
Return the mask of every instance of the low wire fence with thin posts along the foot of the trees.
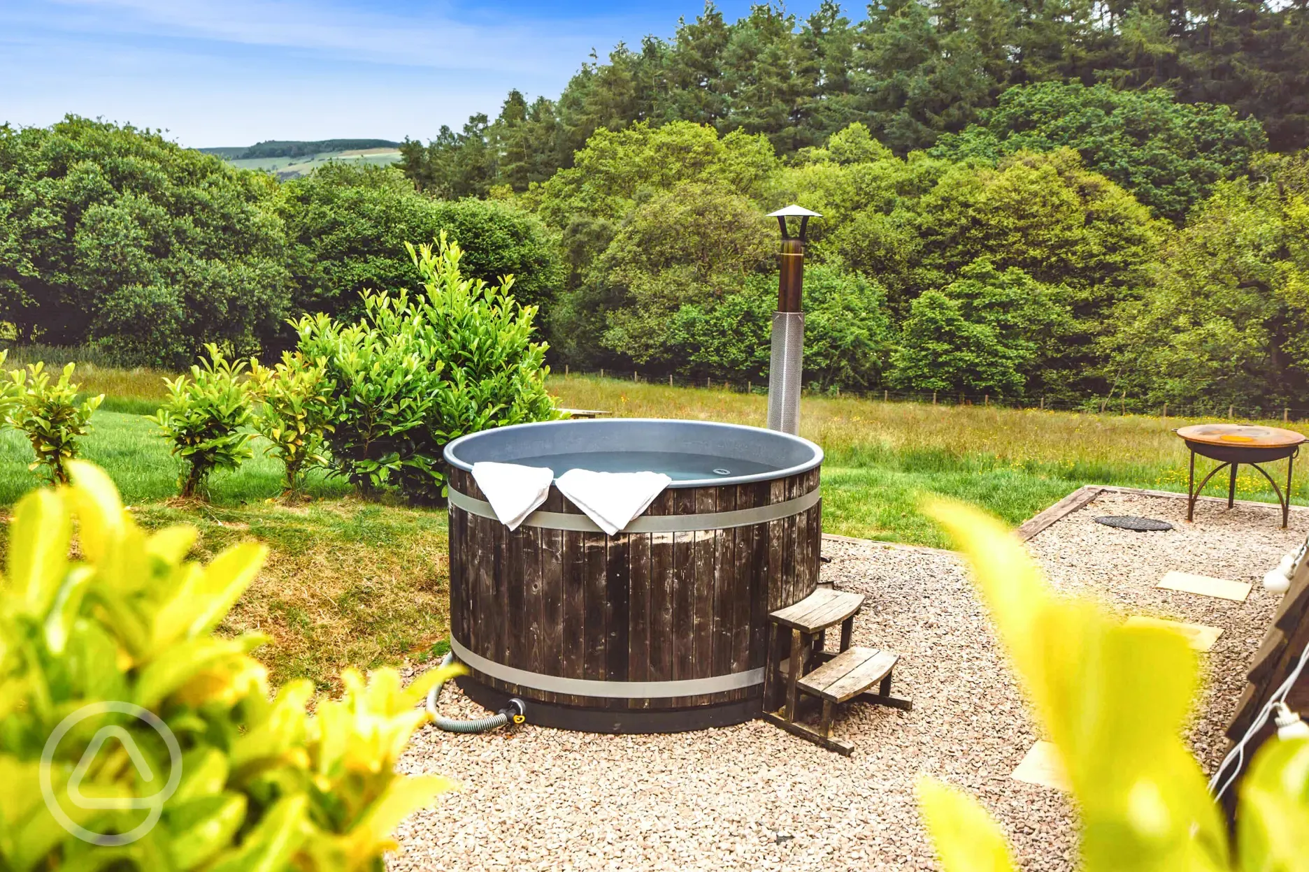
<path id="1" fill-rule="evenodd" d="M 617 382 L 634 382 L 637 384 L 666 384 L 668 387 L 690 387 L 713 391 L 729 391 L 736 394 L 767 395 L 768 379 L 762 377 L 755 379 L 726 379 L 726 378 L 689 378 L 672 374 L 649 374 L 639 370 L 573 370 L 564 365 L 563 371 L 554 375 L 564 378 L 593 378 L 610 379 Z M 983 407 L 1004 409 L 1029 409 L 1039 412 L 1076 412 L 1083 414 L 1138 414 L 1158 418 L 1221 418 L 1224 421 L 1282 421 L 1285 424 L 1295 421 L 1309 421 L 1309 408 L 1284 407 L 1242 407 L 1237 404 L 1183 404 L 1168 401 L 1151 401 L 1147 397 L 1134 397 L 1127 392 L 1115 392 L 1113 396 L 1088 396 L 1081 399 L 1025 396 L 1008 397 L 997 394 L 970 394 L 966 391 L 893 391 L 889 388 L 851 391 L 838 386 L 821 387 L 813 384 L 804 390 L 802 396 L 809 399 L 857 399 L 882 403 L 920 403 L 929 405 L 949 407 Z"/>

